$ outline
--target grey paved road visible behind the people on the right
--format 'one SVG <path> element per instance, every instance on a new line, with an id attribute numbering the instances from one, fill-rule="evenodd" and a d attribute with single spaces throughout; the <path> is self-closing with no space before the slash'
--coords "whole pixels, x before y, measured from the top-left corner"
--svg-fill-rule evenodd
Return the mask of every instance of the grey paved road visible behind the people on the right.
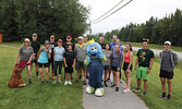
<path id="1" fill-rule="evenodd" d="M 122 46 L 124 48 L 124 46 Z M 134 51 L 137 51 L 138 49 L 141 49 L 139 47 L 132 47 Z M 151 49 L 155 53 L 155 56 L 159 57 L 159 53 L 161 52 L 161 50 L 159 49 Z M 179 56 L 179 60 L 182 61 L 182 52 L 178 52 L 175 51 L 177 55 Z"/>

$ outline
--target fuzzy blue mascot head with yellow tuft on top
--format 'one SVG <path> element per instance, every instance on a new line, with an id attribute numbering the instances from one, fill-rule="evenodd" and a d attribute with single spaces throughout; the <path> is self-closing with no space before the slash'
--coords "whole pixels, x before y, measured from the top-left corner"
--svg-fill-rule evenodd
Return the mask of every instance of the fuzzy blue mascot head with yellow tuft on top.
<path id="1" fill-rule="evenodd" d="M 95 43 L 94 39 L 92 39 L 87 43 L 86 53 L 89 57 L 100 57 L 101 46 L 98 43 Z"/>

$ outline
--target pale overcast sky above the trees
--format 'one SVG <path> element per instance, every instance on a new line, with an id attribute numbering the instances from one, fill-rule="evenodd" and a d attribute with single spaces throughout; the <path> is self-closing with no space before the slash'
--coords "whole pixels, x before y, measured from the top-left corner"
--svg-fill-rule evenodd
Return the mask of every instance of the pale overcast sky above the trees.
<path id="1" fill-rule="evenodd" d="M 121 0 L 80 0 L 82 4 L 90 8 L 89 20 L 94 21 L 104 13 L 113 8 Z M 124 0 L 119 7 L 130 0 Z M 112 14 L 108 19 L 92 24 L 92 34 L 106 33 L 112 29 L 121 28 L 132 23 L 144 23 L 150 16 L 162 19 L 167 14 L 175 12 L 177 9 L 182 10 L 182 0 L 133 0 L 130 4 Z M 89 34 L 88 32 L 85 33 Z"/>

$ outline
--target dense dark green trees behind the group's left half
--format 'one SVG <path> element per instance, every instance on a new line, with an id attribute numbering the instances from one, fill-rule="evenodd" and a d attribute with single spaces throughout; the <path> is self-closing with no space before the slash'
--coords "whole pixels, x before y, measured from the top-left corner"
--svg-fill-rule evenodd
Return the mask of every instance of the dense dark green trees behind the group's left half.
<path id="1" fill-rule="evenodd" d="M 88 15 L 78 0 L 1 0 L 0 31 L 3 41 L 20 41 L 33 33 L 40 41 L 50 35 L 74 38 L 88 29 Z"/>

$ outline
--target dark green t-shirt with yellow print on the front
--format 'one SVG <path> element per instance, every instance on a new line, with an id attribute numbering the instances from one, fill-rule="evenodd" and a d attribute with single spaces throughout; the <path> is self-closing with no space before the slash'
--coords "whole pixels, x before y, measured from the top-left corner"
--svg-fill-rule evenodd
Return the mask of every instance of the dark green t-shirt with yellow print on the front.
<path id="1" fill-rule="evenodd" d="M 155 58 L 154 52 L 150 49 L 139 49 L 136 56 L 138 57 L 138 66 L 147 68 L 149 68 L 150 59 Z"/>

